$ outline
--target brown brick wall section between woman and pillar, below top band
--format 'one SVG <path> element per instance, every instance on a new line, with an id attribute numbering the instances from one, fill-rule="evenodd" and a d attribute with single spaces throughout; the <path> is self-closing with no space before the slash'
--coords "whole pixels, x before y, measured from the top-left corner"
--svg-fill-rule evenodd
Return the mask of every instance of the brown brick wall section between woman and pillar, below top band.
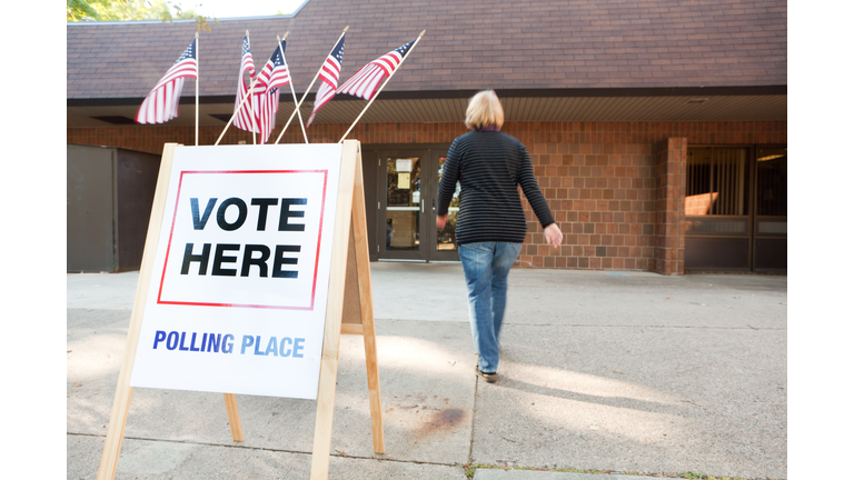
<path id="1" fill-rule="evenodd" d="M 655 157 L 648 143 L 533 143 L 534 173 L 564 232 L 559 251 L 525 202 L 522 267 L 652 270 Z"/>

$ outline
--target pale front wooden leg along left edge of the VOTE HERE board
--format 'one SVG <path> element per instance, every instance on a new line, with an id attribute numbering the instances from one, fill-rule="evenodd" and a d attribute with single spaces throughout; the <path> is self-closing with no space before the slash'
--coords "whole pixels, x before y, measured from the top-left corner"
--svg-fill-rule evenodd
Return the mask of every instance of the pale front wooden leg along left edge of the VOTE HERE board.
<path id="1" fill-rule="evenodd" d="M 172 170 L 176 147 L 176 143 L 165 144 L 163 156 L 160 158 L 157 189 L 155 190 L 155 200 L 151 204 L 151 217 L 148 222 L 148 233 L 146 234 L 146 248 L 142 251 L 139 282 L 137 283 L 137 293 L 133 299 L 133 310 L 130 313 L 128 343 L 125 349 L 121 370 L 119 371 L 116 397 L 112 399 L 110 423 L 107 427 L 107 439 L 103 442 L 101 463 L 98 467 L 98 480 L 111 480 L 116 477 L 116 467 L 119 463 L 121 440 L 125 438 L 125 426 L 128 421 L 128 410 L 130 409 L 130 396 L 133 392 L 133 389 L 130 387 L 130 374 L 133 371 L 133 361 L 137 358 L 137 343 L 139 343 L 139 332 L 142 329 L 142 316 L 146 310 L 146 299 L 148 299 L 148 286 L 151 282 L 151 270 L 155 264 L 157 242 L 160 239 L 160 224 L 163 220 L 166 192 L 169 189 L 169 174 Z"/>

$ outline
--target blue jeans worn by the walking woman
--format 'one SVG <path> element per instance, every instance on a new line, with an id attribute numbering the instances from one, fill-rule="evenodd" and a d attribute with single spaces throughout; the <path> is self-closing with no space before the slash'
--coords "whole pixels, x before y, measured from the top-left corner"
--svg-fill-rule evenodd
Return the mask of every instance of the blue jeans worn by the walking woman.
<path id="1" fill-rule="evenodd" d="M 468 288 L 468 318 L 481 372 L 498 369 L 498 337 L 507 306 L 507 274 L 522 243 L 477 242 L 459 246 Z"/>

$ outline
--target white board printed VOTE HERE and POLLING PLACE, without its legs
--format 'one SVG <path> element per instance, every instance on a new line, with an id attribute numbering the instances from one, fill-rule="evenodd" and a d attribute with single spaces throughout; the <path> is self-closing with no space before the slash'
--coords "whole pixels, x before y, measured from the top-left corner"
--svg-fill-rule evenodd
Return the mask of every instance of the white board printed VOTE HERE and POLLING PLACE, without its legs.
<path id="1" fill-rule="evenodd" d="M 131 387 L 317 398 L 340 161 L 176 148 Z"/>

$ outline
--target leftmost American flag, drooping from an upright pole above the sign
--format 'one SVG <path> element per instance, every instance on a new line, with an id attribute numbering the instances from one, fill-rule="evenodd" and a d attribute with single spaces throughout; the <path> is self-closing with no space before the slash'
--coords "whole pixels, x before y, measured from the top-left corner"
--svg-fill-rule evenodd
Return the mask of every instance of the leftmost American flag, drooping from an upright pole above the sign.
<path id="1" fill-rule="evenodd" d="M 199 64 L 196 61 L 196 40 L 193 40 L 139 106 L 136 122 L 163 123 L 178 117 L 178 101 L 181 99 L 183 79 L 197 78 L 198 74 Z"/>

